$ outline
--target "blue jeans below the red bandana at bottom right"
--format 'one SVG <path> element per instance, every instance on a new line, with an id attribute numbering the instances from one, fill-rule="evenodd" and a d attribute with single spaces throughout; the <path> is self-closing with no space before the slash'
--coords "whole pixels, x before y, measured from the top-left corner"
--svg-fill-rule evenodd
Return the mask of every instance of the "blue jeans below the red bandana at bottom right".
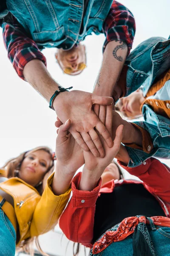
<path id="1" fill-rule="evenodd" d="M 152 230 L 147 226 L 150 238 L 156 251 L 156 256 L 170 256 L 170 227 L 157 226 Z M 125 240 L 113 242 L 101 253 L 95 256 L 137 256 L 133 254 L 133 234 Z M 144 254 L 143 256 L 147 256 Z"/>

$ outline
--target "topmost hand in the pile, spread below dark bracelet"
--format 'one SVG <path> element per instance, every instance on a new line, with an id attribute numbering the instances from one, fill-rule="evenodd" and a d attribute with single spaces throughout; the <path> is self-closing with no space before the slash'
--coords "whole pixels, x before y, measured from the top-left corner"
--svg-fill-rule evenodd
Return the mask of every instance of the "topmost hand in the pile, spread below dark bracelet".
<path id="1" fill-rule="evenodd" d="M 111 97 L 73 90 L 60 93 L 54 100 L 53 107 L 62 123 L 68 118 L 71 119 L 69 131 L 83 150 L 90 149 L 95 157 L 104 157 L 105 152 L 96 131 L 101 134 L 109 147 L 113 146 L 113 141 L 105 125 L 94 113 L 92 105 L 110 105 L 112 102 Z"/>

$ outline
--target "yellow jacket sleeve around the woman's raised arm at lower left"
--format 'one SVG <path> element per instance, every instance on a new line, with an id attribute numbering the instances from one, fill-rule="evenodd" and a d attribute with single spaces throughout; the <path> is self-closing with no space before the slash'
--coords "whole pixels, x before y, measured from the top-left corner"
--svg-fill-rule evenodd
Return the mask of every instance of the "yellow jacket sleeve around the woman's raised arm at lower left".
<path id="1" fill-rule="evenodd" d="M 31 237 L 44 234 L 56 226 L 70 197 L 71 188 L 65 194 L 54 195 L 51 190 L 53 177 L 54 173 L 48 177 L 45 190 L 35 208 L 30 226 Z"/>

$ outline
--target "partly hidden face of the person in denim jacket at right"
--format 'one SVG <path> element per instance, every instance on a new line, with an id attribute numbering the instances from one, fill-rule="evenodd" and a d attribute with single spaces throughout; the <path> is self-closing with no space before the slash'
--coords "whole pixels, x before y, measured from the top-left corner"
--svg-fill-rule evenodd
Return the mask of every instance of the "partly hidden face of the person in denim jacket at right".
<path id="1" fill-rule="evenodd" d="M 116 107 L 118 107 L 119 111 L 125 116 L 135 118 L 141 114 L 140 107 L 143 101 L 144 96 L 142 90 L 138 89 L 129 96 L 119 99 Z"/>

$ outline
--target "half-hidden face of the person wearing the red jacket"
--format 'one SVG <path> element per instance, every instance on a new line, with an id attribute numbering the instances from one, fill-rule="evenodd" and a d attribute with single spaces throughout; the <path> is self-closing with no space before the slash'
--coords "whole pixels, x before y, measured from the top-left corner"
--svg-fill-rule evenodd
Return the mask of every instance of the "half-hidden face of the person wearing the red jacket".
<path id="1" fill-rule="evenodd" d="M 110 163 L 102 174 L 102 185 L 110 180 L 120 180 L 120 173 L 116 163 Z"/>

